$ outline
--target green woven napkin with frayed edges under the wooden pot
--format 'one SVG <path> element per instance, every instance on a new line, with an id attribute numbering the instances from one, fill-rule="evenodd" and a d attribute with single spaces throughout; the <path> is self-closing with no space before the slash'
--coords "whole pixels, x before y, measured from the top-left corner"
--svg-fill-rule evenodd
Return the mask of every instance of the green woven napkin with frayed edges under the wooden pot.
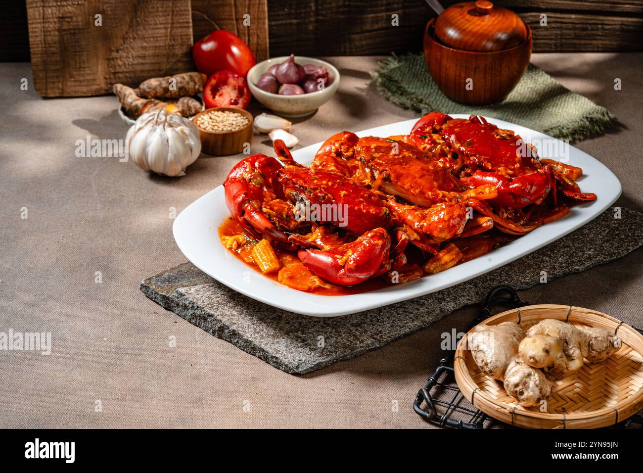
<path id="1" fill-rule="evenodd" d="M 493 116 L 561 139 L 583 140 L 602 133 L 615 120 L 608 109 L 561 86 L 534 64 L 529 64 L 505 100 L 488 106 L 462 105 L 446 97 L 431 79 L 421 54 L 380 62 L 373 79 L 386 98 L 422 114 L 439 111 Z"/>

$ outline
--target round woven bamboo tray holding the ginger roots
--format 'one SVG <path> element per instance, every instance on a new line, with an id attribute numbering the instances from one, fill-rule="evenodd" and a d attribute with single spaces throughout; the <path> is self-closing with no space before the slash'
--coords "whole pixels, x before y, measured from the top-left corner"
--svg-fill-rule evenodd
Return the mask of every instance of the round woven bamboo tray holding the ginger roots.
<path id="1" fill-rule="evenodd" d="M 467 338 L 463 337 L 453 369 L 460 391 L 475 407 L 502 422 L 530 429 L 597 429 L 625 420 L 643 407 L 643 336 L 624 322 L 581 307 L 541 304 L 505 311 L 482 324 L 517 322 L 526 330 L 542 319 L 613 330 L 622 346 L 604 362 L 585 363 L 571 373 L 547 373 L 554 387 L 547 412 L 541 413 L 538 407 L 518 405 L 505 393 L 502 382 L 482 373 L 471 352 L 462 349 Z"/>

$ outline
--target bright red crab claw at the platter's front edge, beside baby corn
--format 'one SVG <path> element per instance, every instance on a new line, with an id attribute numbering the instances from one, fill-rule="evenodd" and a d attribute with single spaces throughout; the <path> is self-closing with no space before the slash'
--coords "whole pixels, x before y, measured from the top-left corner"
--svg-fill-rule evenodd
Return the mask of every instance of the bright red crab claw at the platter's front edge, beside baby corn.
<path id="1" fill-rule="evenodd" d="M 301 249 L 304 266 L 329 283 L 352 286 L 390 269 L 391 239 L 384 228 L 361 235 L 352 243 L 330 250 Z"/>

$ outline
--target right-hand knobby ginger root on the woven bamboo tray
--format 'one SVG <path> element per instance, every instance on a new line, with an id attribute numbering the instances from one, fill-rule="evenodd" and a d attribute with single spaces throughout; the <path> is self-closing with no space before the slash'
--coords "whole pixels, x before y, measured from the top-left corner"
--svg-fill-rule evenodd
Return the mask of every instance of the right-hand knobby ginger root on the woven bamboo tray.
<path id="1" fill-rule="evenodd" d="M 545 319 L 527 331 L 520 342 L 520 357 L 534 368 L 574 371 L 606 360 L 620 348 L 620 337 L 604 328 L 579 329 L 560 320 Z"/>

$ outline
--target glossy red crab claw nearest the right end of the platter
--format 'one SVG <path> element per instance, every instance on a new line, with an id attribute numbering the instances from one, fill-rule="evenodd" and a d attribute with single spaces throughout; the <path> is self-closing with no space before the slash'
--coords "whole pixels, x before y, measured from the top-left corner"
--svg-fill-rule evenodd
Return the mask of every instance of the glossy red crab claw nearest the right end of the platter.
<path id="1" fill-rule="evenodd" d="M 498 172 L 476 171 L 460 181 L 473 187 L 495 185 L 498 197 L 490 199 L 489 203 L 504 209 L 522 209 L 532 203 L 539 204 L 552 189 L 551 180 L 545 172 L 530 172 L 511 179 Z"/>

